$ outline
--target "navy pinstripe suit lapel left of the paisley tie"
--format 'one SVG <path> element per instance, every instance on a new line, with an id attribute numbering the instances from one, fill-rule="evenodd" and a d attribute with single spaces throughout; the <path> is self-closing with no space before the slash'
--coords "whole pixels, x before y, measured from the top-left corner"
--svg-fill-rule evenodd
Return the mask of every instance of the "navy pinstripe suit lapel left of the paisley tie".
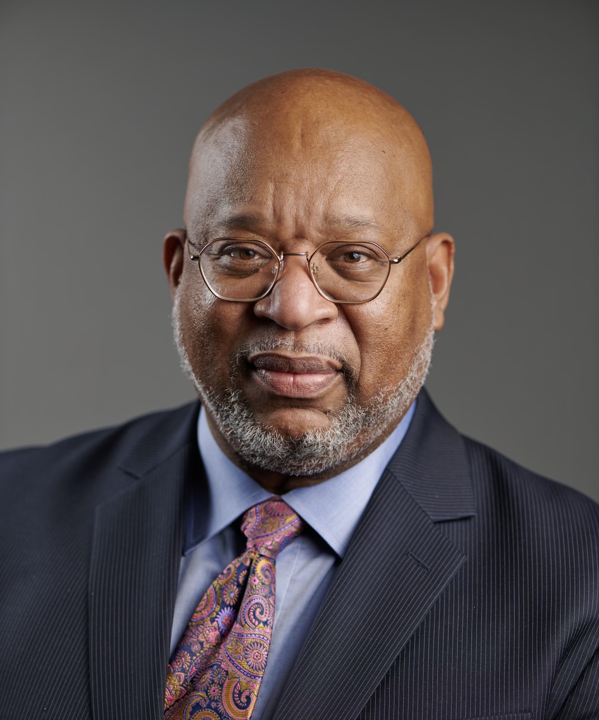
<path id="1" fill-rule="evenodd" d="M 96 720 L 163 716 L 186 478 L 199 462 L 194 418 L 197 406 L 140 438 L 117 471 L 136 482 L 96 508 L 89 583 Z"/>

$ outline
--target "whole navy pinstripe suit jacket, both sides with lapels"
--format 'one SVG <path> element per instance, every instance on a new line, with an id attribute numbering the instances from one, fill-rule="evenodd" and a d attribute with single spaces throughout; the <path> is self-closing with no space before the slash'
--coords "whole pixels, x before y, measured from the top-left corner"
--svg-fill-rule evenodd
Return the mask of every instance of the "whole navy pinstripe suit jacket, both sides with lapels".
<path id="1" fill-rule="evenodd" d="M 0 455 L 1 718 L 162 717 L 198 408 Z M 275 714 L 356 718 L 599 718 L 598 505 L 424 391 Z"/>

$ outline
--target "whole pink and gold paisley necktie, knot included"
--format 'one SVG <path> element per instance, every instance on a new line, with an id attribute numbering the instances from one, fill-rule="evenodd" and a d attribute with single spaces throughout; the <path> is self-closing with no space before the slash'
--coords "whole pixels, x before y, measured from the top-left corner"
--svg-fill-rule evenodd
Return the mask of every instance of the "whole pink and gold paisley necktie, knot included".
<path id="1" fill-rule="evenodd" d="M 281 498 L 250 508 L 246 552 L 212 582 L 168 665 L 165 720 L 248 720 L 269 655 L 274 561 L 303 523 Z"/>

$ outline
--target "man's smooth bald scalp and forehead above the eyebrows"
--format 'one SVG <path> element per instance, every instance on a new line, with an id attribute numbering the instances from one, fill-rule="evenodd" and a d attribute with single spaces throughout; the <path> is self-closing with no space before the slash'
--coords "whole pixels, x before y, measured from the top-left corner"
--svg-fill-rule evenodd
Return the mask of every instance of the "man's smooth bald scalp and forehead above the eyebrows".
<path id="1" fill-rule="evenodd" d="M 368 185 L 374 203 L 369 210 L 345 207 L 349 217 L 358 213 L 354 220 L 374 222 L 390 213 L 397 230 L 410 235 L 433 227 L 431 160 L 420 128 L 392 97 L 342 73 L 279 73 L 218 107 L 194 144 L 187 227 L 207 239 L 215 222 L 239 214 L 233 206 L 245 205 L 247 214 L 256 204 L 258 178 L 274 192 L 301 184 L 302 201 L 314 205 L 325 224 L 325 216 L 341 212 L 341 193 L 341 204 L 351 205 L 353 190 Z M 297 193 L 287 198 L 298 200 Z M 276 208 L 270 210 L 272 221 Z"/>

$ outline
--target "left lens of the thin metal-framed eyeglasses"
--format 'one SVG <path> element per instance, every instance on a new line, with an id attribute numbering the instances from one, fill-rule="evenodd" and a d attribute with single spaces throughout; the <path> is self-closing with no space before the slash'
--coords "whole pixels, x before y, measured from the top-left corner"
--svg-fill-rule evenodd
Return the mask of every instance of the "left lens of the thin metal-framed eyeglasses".
<path id="1" fill-rule="evenodd" d="M 214 240 L 199 261 L 208 287 L 225 300 L 256 300 L 274 284 L 279 258 L 259 240 Z"/>

